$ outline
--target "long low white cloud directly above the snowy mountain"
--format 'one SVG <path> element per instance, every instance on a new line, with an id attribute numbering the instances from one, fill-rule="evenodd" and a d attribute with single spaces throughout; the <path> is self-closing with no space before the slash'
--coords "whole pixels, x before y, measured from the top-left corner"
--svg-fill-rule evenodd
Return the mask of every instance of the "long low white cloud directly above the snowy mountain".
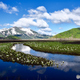
<path id="1" fill-rule="evenodd" d="M 11 24 L 11 26 L 17 27 L 29 27 L 29 26 L 37 26 L 40 28 L 48 27 L 49 25 L 43 19 L 34 19 L 34 18 L 20 18 L 18 21 Z"/>

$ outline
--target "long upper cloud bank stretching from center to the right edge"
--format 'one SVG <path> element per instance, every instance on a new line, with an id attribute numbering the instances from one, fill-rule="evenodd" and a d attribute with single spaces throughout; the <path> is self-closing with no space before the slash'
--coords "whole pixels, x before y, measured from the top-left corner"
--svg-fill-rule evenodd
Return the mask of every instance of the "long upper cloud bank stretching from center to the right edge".
<path id="1" fill-rule="evenodd" d="M 48 13 L 44 6 L 39 6 L 36 9 L 28 10 L 29 14 L 25 17 L 41 18 L 50 20 L 51 22 L 58 23 L 71 23 L 72 21 L 80 26 L 80 7 L 69 10 L 68 8 Z"/>

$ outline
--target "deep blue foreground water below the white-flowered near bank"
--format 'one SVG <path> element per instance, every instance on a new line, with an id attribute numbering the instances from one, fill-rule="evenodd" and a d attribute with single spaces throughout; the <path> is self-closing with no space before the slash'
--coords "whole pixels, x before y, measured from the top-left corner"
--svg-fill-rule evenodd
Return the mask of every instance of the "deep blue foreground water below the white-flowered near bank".
<path id="1" fill-rule="evenodd" d="M 32 67 L 0 60 L 0 80 L 76 80 L 78 74 L 68 71 L 68 67 Z"/>

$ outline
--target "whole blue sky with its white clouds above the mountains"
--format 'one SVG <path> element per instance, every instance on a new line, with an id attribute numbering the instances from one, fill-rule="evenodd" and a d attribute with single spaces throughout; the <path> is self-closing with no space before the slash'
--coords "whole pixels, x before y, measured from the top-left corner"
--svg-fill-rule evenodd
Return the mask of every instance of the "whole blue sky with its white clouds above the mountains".
<path id="1" fill-rule="evenodd" d="M 13 26 L 49 35 L 80 27 L 80 0 L 0 0 L 0 29 Z"/>

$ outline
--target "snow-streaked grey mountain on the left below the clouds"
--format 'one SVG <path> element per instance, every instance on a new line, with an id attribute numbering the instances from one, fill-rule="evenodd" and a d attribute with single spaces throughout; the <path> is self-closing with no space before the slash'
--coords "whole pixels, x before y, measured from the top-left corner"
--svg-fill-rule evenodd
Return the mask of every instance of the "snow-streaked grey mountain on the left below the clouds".
<path id="1" fill-rule="evenodd" d="M 12 27 L 9 29 L 1 29 L 0 30 L 0 37 L 7 37 L 7 36 L 17 36 L 21 39 L 37 39 L 37 38 L 48 38 L 47 35 L 39 34 L 29 28 L 22 28 L 22 27 Z"/>

